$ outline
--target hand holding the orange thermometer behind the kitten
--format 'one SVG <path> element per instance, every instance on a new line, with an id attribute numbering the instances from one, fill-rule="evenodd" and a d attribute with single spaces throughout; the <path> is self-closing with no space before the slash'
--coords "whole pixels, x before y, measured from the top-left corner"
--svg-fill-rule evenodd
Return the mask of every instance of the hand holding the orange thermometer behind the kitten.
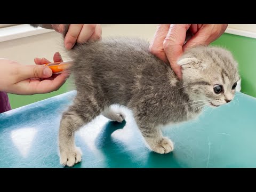
<path id="1" fill-rule="evenodd" d="M 62 61 L 57 52 L 54 62 Z M 0 91 L 21 95 L 50 93 L 58 90 L 68 78 L 68 72 L 52 74 L 49 67 L 41 66 L 49 63 L 46 59 L 35 58 L 37 65 L 21 65 L 9 59 L 0 59 Z"/>

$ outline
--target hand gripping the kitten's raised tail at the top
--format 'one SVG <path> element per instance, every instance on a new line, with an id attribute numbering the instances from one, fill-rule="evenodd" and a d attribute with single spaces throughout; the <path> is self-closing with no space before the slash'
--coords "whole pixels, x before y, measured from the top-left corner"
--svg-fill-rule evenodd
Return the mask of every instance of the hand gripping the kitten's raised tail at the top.
<path id="1" fill-rule="evenodd" d="M 63 33 L 65 24 L 52 24 L 58 33 Z M 75 43 L 84 43 L 89 40 L 101 39 L 100 24 L 69 24 L 68 33 L 65 36 L 65 47 L 70 50 Z"/>

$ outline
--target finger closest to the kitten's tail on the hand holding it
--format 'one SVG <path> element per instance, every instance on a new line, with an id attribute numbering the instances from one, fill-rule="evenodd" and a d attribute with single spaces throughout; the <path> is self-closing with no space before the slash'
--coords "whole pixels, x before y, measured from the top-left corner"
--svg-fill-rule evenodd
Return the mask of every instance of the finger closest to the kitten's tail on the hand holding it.
<path id="1" fill-rule="evenodd" d="M 75 45 L 77 37 L 83 28 L 83 24 L 70 24 L 65 36 L 65 47 L 70 50 Z"/>

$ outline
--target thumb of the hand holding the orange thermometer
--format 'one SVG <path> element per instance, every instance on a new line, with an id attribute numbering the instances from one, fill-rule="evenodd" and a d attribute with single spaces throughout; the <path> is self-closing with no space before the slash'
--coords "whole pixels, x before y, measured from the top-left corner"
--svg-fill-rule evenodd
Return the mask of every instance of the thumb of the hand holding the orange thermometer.
<path id="1" fill-rule="evenodd" d="M 19 74 L 20 81 L 28 78 L 49 78 L 52 76 L 52 70 L 42 65 L 23 65 Z"/>

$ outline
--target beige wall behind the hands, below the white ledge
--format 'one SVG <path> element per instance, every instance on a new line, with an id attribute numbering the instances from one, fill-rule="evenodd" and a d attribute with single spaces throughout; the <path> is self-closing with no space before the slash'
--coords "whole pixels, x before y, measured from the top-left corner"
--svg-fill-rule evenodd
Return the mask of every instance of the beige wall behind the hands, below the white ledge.
<path id="1" fill-rule="evenodd" d="M 154 24 L 124 24 L 102 25 L 102 37 L 107 36 L 132 36 L 151 40 L 157 25 Z M 0 29 L 1 30 L 1 29 Z M 63 54 L 61 35 L 55 31 L 0 42 L 0 58 L 8 58 L 20 63 L 34 64 L 34 58 L 46 58 L 52 61 L 53 54 L 59 51 Z M 68 59 L 63 55 L 63 59 Z"/>

